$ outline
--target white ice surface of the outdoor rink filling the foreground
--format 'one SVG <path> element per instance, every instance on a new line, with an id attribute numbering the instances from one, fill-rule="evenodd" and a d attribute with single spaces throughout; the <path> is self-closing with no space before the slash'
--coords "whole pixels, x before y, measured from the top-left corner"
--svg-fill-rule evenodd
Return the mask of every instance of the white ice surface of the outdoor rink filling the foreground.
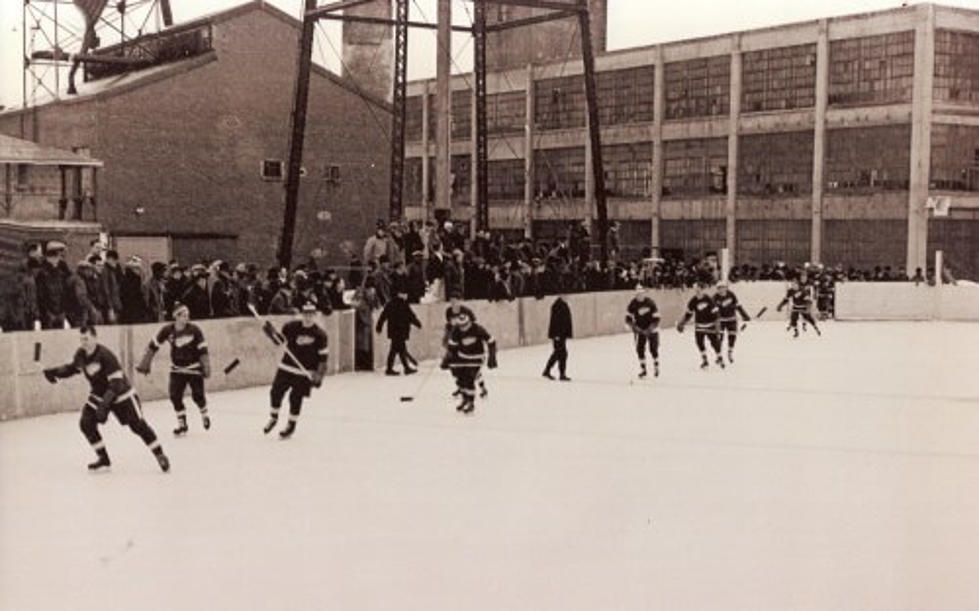
<path id="1" fill-rule="evenodd" d="M 169 474 L 114 419 L 94 475 L 77 412 L 0 423 L 0 609 L 975 611 L 977 346 L 752 323 L 703 372 L 669 330 L 640 382 L 630 335 L 574 340 L 567 383 L 502 352 L 469 417 L 441 371 L 398 401 L 432 362 L 328 378 L 289 441 L 268 387 L 181 439 L 156 402 Z"/>

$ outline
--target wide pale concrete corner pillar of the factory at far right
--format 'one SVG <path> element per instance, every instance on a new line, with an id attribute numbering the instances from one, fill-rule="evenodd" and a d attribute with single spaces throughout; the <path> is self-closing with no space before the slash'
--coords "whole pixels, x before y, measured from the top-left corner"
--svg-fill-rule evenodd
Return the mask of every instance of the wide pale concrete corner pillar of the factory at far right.
<path id="1" fill-rule="evenodd" d="M 914 28 L 914 88 L 911 107 L 911 184 L 908 189 L 908 257 L 905 269 L 925 269 L 928 254 L 928 182 L 935 81 L 935 7 L 919 4 Z"/>

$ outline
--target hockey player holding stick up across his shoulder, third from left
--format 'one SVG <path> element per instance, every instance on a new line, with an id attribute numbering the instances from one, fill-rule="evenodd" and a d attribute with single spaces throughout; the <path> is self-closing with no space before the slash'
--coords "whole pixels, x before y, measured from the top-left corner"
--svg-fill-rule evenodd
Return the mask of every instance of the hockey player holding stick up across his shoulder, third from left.
<path id="1" fill-rule="evenodd" d="M 282 326 L 279 332 L 272 323 L 265 321 L 262 330 L 276 345 L 285 344 L 286 351 L 275 372 L 270 392 L 272 411 L 264 432 L 268 434 L 279 421 L 279 408 L 286 392 L 289 392 L 289 423 L 279 437 L 287 439 L 296 431 L 296 421 L 302 410 L 303 399 L 310 395 L 313 387 L 319 388 L 326 375 L 326 361 L 329 356 L 329 340 L 326 332 L 316 324 L 316 304 L 307 301 L 301 306 L 300 320 L 292 320 Z"/>

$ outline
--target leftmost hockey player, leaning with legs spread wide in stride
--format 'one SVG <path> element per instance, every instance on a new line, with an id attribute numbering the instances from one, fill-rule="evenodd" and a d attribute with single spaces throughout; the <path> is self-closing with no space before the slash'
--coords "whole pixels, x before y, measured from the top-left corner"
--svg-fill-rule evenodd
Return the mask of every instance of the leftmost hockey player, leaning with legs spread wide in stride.
<path id="1" fill-rule="evenodd" d="M 126 380 L 119 359 L 111 350 L 98 343 L 95 327 L 84 325 L 79 331 L 81 348 L 75 352 L 71 362 L 61 367 L 45 369 L 44 377 L 52 384 L 56 383 L 58 378 L 70 378 L 78 373 L 83 374 L 88 380 L 91 390 L 85 406 L 82 407 L 79 425 L 85 439 L 98 456 L 98 460 L 88 465 L 88 468 L 97 471 L 111 464 L 105 442 L 99 434 L 99 425 L 105 424 L 109 419 L 109 412 L 112 412 L 119 424 L 128 426 L 152 450 L 160 468 L 164 472 L 169 471 L 170 461 L 163 453 L 156 433 L 143 419 L 139 397 Z"/>

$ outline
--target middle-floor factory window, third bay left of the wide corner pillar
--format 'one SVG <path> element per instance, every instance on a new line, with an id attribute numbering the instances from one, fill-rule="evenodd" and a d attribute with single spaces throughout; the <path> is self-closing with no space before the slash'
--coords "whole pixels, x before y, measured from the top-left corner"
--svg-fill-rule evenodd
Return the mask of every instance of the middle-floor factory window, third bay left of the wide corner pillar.
<path id="1" fill-rule="evenodd" d="M 727 193 L 727 138 L 663 143 L 663 195 Z"/>

